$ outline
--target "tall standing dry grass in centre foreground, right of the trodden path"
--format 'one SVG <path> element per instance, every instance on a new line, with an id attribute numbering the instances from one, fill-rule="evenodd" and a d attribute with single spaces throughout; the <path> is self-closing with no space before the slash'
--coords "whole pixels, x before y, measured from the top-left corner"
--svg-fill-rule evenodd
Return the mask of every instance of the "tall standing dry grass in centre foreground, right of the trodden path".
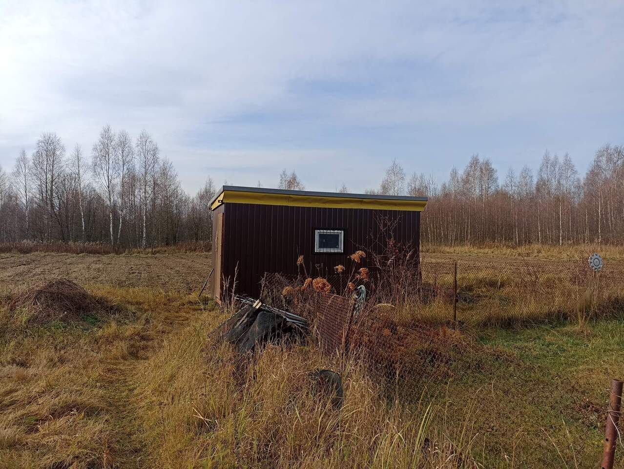
<path id="1" fill-rule="evenodd" d="M 469 428 L 431 426 L 444 408 L 401 402 L 361 360 L 311 344 L 238 357 L 196 325 L 168 340 L 140 377 L 142 425 L 161 467 L 477 467 Z M 339 370 L 344 407 L 311 392 L 310 372 Z M 443 420 L 439 420 L 443 422 Z"/>

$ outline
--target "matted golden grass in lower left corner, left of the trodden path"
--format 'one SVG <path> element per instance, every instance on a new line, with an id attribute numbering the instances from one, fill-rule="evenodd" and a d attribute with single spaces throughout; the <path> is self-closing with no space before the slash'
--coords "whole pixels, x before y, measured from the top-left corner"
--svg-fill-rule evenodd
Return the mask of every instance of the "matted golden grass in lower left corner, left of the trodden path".
<path id="1" fill-rule="evenodd" d="M 112 467 L 120 432 L 97 338 L 30 330 L 0 347 L 0 467 Z"/>

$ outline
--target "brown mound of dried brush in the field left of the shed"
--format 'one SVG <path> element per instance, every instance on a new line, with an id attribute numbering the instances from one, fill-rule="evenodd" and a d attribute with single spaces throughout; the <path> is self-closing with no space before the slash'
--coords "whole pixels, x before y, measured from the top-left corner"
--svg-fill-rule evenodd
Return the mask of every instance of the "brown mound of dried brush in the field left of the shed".
<path id="1" fill-rule="evenodd" d="M 47 324 L 87 322 L 87 318 L 100 320 L 117 312 L 117 307 L 94 297 L 84 288 L 67 279 L 41 282 L 17 295 L 9 306 L 12 312 L 26 310 L 27 322 Z"/>

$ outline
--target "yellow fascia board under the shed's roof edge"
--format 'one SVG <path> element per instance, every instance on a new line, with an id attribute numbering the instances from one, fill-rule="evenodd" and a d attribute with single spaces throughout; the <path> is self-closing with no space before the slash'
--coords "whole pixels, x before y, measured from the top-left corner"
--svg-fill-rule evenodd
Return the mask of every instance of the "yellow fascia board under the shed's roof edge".
<path id="1" fill-rule="evenodd" d="M 426 200 L 360 199 L 358 197 L 329 197 L 323 195 L 267 194 L 224 190 L 213 202 L 212 210 L 223 203 L 290 205 L 291 207 L 331 207 L 335 209 L 411 210 L 422 212 Z"/>

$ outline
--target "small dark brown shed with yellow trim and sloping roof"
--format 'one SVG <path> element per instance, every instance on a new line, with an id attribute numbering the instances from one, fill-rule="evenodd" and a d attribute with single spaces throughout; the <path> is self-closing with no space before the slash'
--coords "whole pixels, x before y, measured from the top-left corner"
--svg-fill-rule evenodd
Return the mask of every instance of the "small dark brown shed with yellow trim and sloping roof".
<path id="1" fill-rule="evenodd" d="M 220 300 L 225 285 L 235 283 L 236 293 L 257 297 L 264 274 L 297 274 L 300 255 L 311 275 L 324 276 L 348 265 L 357 250 L 381 254 L 388 239 L 418 259 L 426 203 L 426 197 L 224 185 L 210 201 L 213 296 Z"/>

